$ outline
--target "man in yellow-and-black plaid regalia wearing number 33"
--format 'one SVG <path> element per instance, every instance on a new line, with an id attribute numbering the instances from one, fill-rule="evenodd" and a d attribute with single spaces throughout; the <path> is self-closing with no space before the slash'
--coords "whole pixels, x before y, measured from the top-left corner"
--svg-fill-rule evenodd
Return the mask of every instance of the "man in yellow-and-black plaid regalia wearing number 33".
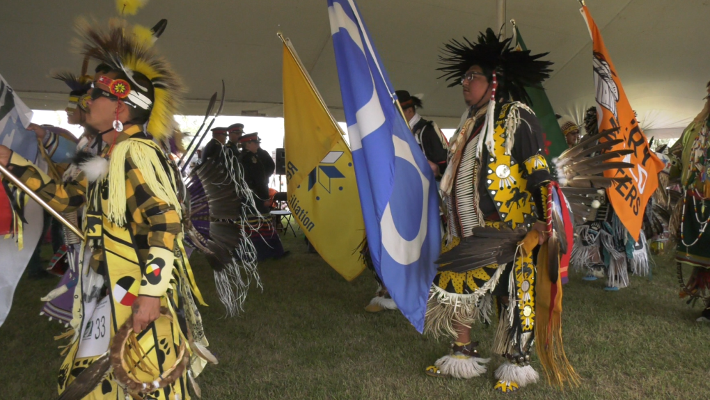
<path id="1" fill-rule="evenodd" d="M 0 163 L 50 206 L 84 207 L 58 389 L 67 399 L 189 399 L 188 376 L 195 387 L 192 377 L 216 360 L 204 347 L 194 299 L 204 302 L 182 245 L 180 177 L 148 137 L 173 133 L 182 85 L 162 57 L 126 35 L 125 21 L 111 21 L 107 32 L 81 21 L 77 30 L 84 55 L 110 67 L 94 79 L 87 114 L 107 145 L 78 162 L 81 172 L 68 182 L 0 146 Z"/>

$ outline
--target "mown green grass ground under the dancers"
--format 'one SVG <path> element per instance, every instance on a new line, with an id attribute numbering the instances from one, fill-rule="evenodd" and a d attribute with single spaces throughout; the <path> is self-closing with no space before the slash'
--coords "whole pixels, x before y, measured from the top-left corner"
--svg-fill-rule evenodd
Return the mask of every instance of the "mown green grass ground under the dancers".
<path id="1" fill-rule="evenodd" d="M 198 381 L 203 399 L 476 399 L 493 392 L 493 372 L 468 381 L 426 377 L 424 368 L 448 343 L 419 335 L 398 312 L 369 314 L 375 283 L 364 272 L 352 283 L 286 236 L 291 255 L 263 262 L 263 292 L 251 289 L 246 311 L 223 318 L 212 272 L 193 266 L 211 305 L 202 308 L 219 365 Z M 583 381 L 564 392 L 539 382 L 515 399 L 708 399 L 710 326 L 699 308 L 678 298 L 674 263 L 657 259 L 652 280 L 631 278 L 616 293 L 572 274 L 564 287 L 567 356 Z M 48 399 L 61 362 L 57 323 L 38 316 L 53 279 L 23 279 L 0 328 L 0 398 Z M 476 326 L 480 352 L 490 355 L 493 327 Z M 539 365 L 535 363 L 535 366 Z"/>

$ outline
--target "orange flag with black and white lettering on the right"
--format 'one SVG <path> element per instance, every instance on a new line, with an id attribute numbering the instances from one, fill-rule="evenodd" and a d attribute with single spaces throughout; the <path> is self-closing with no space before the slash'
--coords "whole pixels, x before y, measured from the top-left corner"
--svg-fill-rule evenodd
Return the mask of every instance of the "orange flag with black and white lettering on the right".
<path id="1" fill-rule="evenodd" d="M 630 178 L 629 182 L 612 184 L 606 189 L 606 194 L 623 226 L 634 240 L 638 240 L 646 203 L 658 187 L 658 174 L 663 170 L 664 164 L 650 150 L 646 135 L 638 126 L 633 109 L 628 104 L 626 93 L 621 87 L 621 79 L 616 74 L 616 68 L 611 62 L 601 32 L 591 18 L 589 9 L 582 6 L 579 11 L 594 42 L 592 67 L 599 131 L 620 128 L 609 140 L 623 139 L 623 142 L 613 146 L 612 150 L 634 150 L 633 154 L 606 161 L 623 161 L 635 165 L 633 168 L 605 171 L 605 177 Z"/>

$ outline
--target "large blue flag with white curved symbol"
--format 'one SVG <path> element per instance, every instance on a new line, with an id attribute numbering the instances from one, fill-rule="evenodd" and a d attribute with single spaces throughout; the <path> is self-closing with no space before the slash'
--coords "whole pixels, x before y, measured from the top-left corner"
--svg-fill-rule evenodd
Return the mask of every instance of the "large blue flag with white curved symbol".
<path id="1" fill-rule="evenodd" d="M 353 0 L 328 0 L 330 31 L 373 264 L 422 332 L 441 250 L 439 195 L 427 159 Z"/>

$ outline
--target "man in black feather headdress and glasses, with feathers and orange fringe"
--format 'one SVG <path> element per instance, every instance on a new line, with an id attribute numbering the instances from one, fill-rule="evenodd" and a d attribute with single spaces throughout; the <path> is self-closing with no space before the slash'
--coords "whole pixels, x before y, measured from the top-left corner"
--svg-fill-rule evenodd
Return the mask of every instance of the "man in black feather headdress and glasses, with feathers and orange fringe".
<path id="1" fill-rule="evenodd" d="M 557 171 L 574 195 L 565 199 L 541 154 L 540 123 L 521 102 L 530 102 L 525 87 L 540 87 L 551 63 L 540 60 L 545 54 L 516 52 L 509 43 L 488 29 L 475 43 L 453 40 L 442 57 L 440 70 L 455 79 L 449 86 L 461 83 L 468 109 L 450 141 L 441 182 L 449 231 L 425 325 L 425 333 L 454 338 L 450 354 L 427 367 L 427 374 L 478 377 L 490 359 L 479 355 L 471 324 L 490 321 L 495 296 L 500 321 L 493 352 L 504 358 L 495 389 L 503 392 L 537 381 L 530 365 L 535 340 L 544 343 L 537 352 L 550 382 L 578 382 L 562 347 L 559 267 L 568 262 L 572 245 L 568 207 L 588 212 L 593 185 L 615 182 L 590 176 L 607 168 L 599 158 L 586 158 L 594 150 L 589 143 L 608 135 L 603 132 L 560 155 Z M 631 166 L 613 167 L 619 165 Z"/>

